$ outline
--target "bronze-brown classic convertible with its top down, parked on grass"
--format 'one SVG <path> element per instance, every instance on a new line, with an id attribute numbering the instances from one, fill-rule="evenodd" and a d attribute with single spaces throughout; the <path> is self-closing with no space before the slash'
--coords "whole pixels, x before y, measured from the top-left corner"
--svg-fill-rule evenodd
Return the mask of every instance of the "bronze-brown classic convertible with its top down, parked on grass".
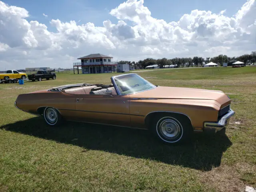
<path id="1" fill-rule="evenodd" d="M 168 144 L 188 140 L 193 131 L 221 130 L 235 114 L 222 91 L 156 86 L 138 74 L 111 82 L 20 94 L 15 106 L 43 116 L 50 126 L 71 120 L 148 129 Z"/>

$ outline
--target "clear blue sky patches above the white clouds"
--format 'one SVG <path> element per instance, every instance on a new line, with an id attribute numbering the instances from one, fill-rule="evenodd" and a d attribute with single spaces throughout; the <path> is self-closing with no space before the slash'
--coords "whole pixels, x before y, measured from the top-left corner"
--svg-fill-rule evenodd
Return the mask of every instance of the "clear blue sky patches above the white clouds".
<path id="1" fill-rule="evenodd" d="M 25 8 L 30 14 L 28 21 L 37 20 L 46 24 L 48 30 L 54 31 L 49 23 L 51 19 L 59 19 L 62 22 L 80 20 L 79 24 L 92 22 L 95 26 L 102 26 L 104 20 L 116 23 L 118 20 L 109 12 L 124 0 L 4 0 L 4 2 Z M 152 17 L 172 22 L 178 21 L 183 14 L 189 14 L 195 9 L 210 10 L 213 13 L 226 9 L 225 15 L 231 17 L 245 2 L 246 0 L 144 0 L 144 6 L 151 11 Z M 48 15 L 48 18 L 45 18 L 43 13 Z"/>

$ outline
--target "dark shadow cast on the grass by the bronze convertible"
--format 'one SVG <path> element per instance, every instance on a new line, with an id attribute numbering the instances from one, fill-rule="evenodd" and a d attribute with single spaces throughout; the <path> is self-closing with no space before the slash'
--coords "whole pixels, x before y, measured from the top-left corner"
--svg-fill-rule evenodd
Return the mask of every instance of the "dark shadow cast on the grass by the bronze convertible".
<path id="1" fill-rule="evenodd" d="M 147 130 L 79 122 L 50 127 L 41 117 L 0 128 L 86 148 L 81 152 L 103 150 L 205 171 L 220 166 L 222 153 L 232 145 L 225 130 L 214 135 L 195 134 L 187 144 L 169 146 L 158 142 Z"/>

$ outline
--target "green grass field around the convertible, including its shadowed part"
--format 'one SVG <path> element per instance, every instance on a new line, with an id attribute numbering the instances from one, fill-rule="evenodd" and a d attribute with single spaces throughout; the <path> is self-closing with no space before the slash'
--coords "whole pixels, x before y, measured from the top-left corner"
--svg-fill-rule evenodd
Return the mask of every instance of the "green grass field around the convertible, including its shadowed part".
<path id="1" fill-rule="evenodd" d="M 109 84 L 113 74 L 57 74 L 56 80 L 0 84 L 0 192 L 256 187 L 256 67 L 138 74 L 161 86 L 222 90 L 236 115 L 215 135 L 197 134 L 190 144 L 167 146 L 145 130 L 75 122 L 50 128 L 14 107 L 18 94 L 78 82 Z"/>

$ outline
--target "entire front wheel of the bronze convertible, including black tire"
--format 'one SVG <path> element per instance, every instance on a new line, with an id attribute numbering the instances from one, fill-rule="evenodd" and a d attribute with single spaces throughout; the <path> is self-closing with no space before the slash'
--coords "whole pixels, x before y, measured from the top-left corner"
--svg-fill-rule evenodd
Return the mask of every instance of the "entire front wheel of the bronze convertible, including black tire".
<path id="1" fill-rule="evenodd" d="M 192 136 L 192 125 L 185 116 L 163 114 L 155 117 L 151 131 L 161 142 L 180 144 Z"/>

